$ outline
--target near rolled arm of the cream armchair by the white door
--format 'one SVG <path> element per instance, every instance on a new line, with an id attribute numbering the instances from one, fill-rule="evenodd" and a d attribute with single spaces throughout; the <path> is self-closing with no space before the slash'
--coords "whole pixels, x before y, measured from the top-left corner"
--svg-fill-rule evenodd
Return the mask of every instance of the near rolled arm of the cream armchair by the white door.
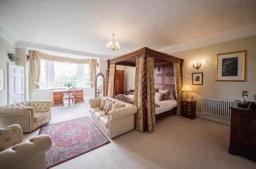
<path id="1" fill-rule="evenodd" d="M 0 107 L 0 116 L 31 116 L 34 109 L 31 107 Z"/>

